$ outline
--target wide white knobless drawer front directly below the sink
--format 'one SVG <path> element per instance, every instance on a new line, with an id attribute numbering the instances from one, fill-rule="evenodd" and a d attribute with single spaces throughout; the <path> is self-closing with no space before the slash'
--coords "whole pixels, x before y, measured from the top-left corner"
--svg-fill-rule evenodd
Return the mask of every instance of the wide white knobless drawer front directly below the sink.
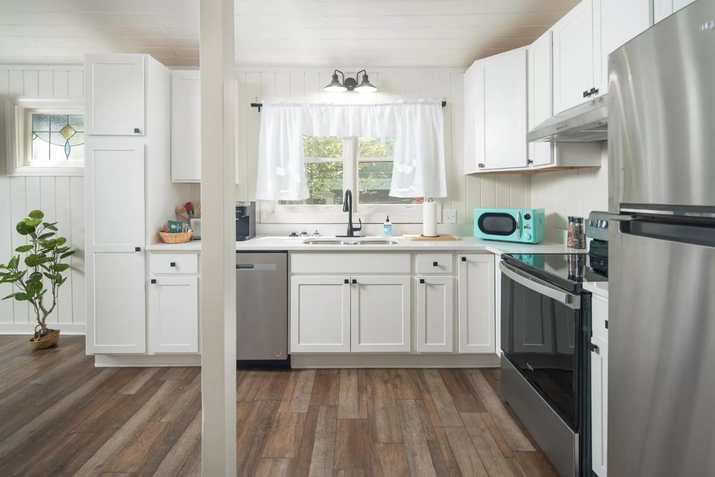
<path id="1" fill-rule="evenodd" d="M 294 253 L 291 273 L 409 273 L 408 253 Z"/>

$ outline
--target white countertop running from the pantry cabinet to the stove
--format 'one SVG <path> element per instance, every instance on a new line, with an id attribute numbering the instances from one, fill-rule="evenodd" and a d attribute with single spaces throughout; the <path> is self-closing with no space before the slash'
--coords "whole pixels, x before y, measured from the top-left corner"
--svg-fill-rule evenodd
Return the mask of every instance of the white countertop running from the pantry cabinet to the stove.
<path id="1" fill-rule="evenodd" d="M 320 237 L 323 240 L 333 237 Z M 385 237 L 365 237 L 370 240 L 385 240 Z M 478 240 L 474 237 L 463 237 L 455 241 L 410 241 L 403 237 L 389 237 L 389 240 L 398 242 L 393 245 L 310 245 L 305 243 L 305 237 L 255 237 L 244 242 L 236 242 L 236 250 L 290 250 L 292 252 L 337 252 L 358 250 L 363 251 L 469 251 L 490 252 L 497 255 L 502 253 L 585 253 L 586 250 L 576 250 L 563 244 L 539 243 L 536 245 L 516 242 L 497 242 L 495 240 Z M 340 239 L 338 239 L 340 240 Z M 347 240 L 347 239 L 345 239 Z M 147 250 L 201 250 L 201 240 L 192 240 L 182 244 L 158 243 L 147 246 Z"/>

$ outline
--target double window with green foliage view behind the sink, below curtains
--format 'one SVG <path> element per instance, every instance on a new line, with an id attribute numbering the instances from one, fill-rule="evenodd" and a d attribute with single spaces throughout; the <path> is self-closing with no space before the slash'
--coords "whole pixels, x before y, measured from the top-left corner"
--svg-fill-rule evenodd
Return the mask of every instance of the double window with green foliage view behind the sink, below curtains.
<path id="1" fill-rule="evenodd" d="M 355 220 L 421 222 L 422 197 L 390 197 L 395 139 L 392 137 L 303 136 L 310 197 L 264 202 L 267 223 L 342 223 L 345 190 L 352 190 Z"/>

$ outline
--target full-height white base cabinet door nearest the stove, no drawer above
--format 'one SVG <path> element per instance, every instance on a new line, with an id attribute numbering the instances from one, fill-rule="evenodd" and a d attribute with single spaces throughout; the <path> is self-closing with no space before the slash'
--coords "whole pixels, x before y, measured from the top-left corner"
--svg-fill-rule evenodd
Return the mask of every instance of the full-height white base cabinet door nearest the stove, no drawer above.
<path id="1" fill-rule="evenodd" d="M 459 352 L 495 353 L 494 255 L 460 255 Z"/>

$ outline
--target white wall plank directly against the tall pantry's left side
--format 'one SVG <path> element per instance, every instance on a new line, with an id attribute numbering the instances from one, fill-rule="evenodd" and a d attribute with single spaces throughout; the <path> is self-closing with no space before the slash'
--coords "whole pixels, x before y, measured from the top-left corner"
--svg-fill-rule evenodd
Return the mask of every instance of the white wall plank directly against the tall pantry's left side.
<path id="1" fill-rule="evenodd" d="M 84 277 L 84 177 L 69 178 L 69 222 L 72 255 L 72 323 L 87 323 Z M 68 237 L 69 238 L 69 237 Z"/>

